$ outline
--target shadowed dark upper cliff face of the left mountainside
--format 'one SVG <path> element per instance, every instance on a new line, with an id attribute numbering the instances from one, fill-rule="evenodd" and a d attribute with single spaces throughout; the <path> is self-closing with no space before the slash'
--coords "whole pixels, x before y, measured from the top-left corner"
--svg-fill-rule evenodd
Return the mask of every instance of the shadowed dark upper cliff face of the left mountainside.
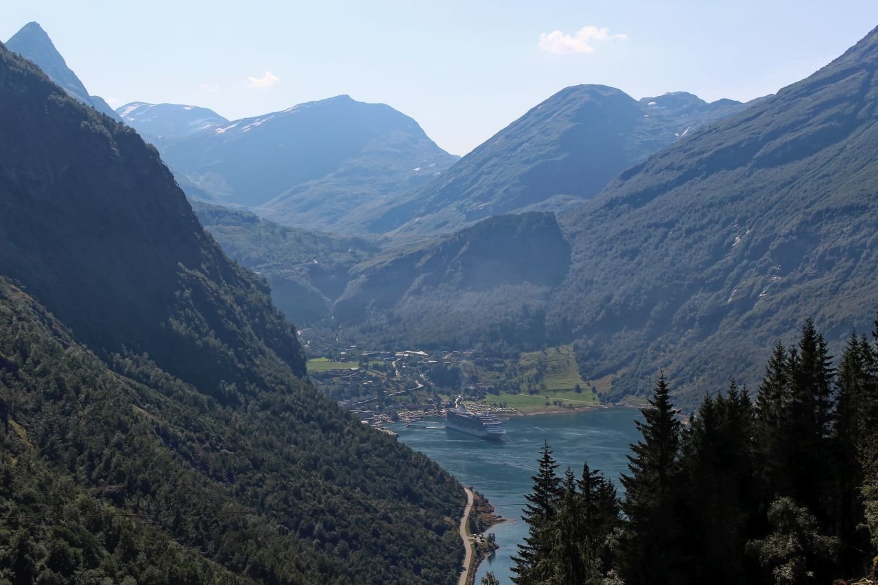
<path id="1" fill-rule="evenodd" d="M 2 58 L 0 272 L 96 348 L 148 352 L 199 383 L 269 353 L 304 376 L 265 286 L 205 234 L 155 148 Z M 216 370 L 193 371 L 194 355 Z"/>

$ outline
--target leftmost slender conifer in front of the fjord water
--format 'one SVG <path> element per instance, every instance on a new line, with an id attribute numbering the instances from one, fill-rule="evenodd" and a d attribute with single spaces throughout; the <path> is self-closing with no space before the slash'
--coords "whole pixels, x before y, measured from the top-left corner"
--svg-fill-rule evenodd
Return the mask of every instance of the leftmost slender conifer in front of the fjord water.
<path id="1" fill-rule="evenodd" d="M 558 463 L 552 458 L 549 443 L 543 444 L 543 456 L 539 459 L 533 491 L 525 495 L 528 503 L 524 507 L 524 521 L 528 524 L 528 536 L 518 545 L 518 555 L 513 557 L 513 582 L 519 585 L 546 581 L 545 574 L 539 570 L 547 566 L 551 553 L 551 521 L 558 511 L 561 497 L 560 479 L 555 470 Z"/>

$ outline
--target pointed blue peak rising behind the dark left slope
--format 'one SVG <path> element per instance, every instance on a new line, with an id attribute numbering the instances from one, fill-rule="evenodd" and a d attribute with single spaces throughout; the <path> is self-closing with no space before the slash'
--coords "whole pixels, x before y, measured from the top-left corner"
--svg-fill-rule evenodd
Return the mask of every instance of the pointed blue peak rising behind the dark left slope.
<path id="1" fill-rule="evenodd" d="M 12 35 L 10 40 L 6 41 L 6 47 L 28 61 L 36 63 L 43 70 L 43 73 L 67 91 L 69 96 L 76 97 L 83 104 L 90 105 L 112 119 L 119 119 L 119 116 L 113 112 L 104 98 L 89 95 L 83 82 L 79 80 L 76 73 L 68 68 L 64 58 L 58 53 L 52 40 L 49 39 L 49 35 L 38 23 L 29 22 L 22 26 L 18 32 Z"/>

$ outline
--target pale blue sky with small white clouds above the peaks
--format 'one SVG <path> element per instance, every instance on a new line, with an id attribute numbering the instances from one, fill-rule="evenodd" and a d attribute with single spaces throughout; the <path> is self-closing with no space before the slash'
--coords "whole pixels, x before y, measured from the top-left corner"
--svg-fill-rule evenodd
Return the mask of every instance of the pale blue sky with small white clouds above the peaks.
<path id="1" fill-rule="evenodd" d="M 228 119 L 348 94 L 464 155 L 563 88 L 749 100 L 878 25 L 874 0 L 0 0 L 0 40 L 36 20 L 113 107 Z"/>

